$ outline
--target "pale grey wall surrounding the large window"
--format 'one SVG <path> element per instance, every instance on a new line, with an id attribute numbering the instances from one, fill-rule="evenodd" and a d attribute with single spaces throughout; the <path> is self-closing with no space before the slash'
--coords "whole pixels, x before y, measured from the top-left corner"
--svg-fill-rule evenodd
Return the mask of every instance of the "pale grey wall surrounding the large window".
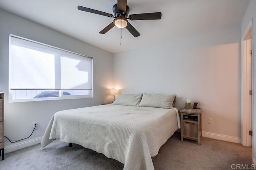
<path id="1" fill-rule="evenodd" d="M 38 121 L 33 135 L 14 144 L 5 140 L 5 152 L 40 143 L 40 137 L 56 111 L 95 106 L 112 101 L 112 53 L 0 10 L 0 88 L 5 92 L 5 135 L 13 140 L 28 137 L 32 123 Z M 18 35 L 94 58 L 94 98 L 8 103 L 8 36 Z"/>

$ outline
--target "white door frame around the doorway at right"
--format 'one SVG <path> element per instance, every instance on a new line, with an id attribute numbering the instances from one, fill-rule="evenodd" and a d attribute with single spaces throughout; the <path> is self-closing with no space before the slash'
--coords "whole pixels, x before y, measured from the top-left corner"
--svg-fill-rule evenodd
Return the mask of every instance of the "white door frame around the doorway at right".
<path id="1" fill-rule="evenodd" d="M 246 97 L 249 94 L 249 90 L 247 89 L 247 77 L 246 77 L 246 55 L 244 55 L 244 41 L 246 41 L 248 33 L 251 31 L 251 34 L 253 36 L 253 21 L 250 20 L 250 23 L 248 24 L 246 31 L 242 35 L 241 39 L 241 143 L 244 146 L 251 147 L 252 143 L 252 137 L 249 135 L 249 130 L 253 129 L 254 123 L 253 123 L 253 116 L 254 116 L 254 57 L 252 53 L 252 102 L 251 102 L 251 115 L 247 112 L 248 108 L 248 101 L 246 100 Z M 253 38 L 252 38 L 252 47 L 253 47 Z"/>

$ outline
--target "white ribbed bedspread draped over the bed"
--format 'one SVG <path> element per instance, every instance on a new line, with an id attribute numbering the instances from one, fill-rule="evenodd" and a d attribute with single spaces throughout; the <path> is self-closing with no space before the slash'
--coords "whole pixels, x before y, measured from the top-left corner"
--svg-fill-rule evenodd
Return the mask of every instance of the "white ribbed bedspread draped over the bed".
<path id="1" fill-rule="evenodd" d="M 124 170 L 154 170 L 151 157 L 179 127 L 178 110 L 101 105 L 59 111 L 41 141 L 76 143 L 124 164 Z M 180 127 L 179 127 L 180 128 Z"/>

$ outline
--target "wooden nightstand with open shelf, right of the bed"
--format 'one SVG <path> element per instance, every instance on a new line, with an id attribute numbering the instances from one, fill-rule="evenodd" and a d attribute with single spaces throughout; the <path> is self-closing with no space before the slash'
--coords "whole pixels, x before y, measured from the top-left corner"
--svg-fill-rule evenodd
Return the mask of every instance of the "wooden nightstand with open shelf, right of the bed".
<path id="1" fill-rule="evenodd" d="M 180 140 L 192 139 L 198 141 L 201 145 L 201 109 L 187 109 L 180 110 Z"/>

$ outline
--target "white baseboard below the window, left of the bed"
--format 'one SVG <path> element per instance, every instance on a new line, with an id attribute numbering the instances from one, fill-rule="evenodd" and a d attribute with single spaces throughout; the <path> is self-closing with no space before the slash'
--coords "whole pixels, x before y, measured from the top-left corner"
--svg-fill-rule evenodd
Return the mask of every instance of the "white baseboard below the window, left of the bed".
<path id="1" fill-rule="evenodd" d="M 4 147 L 4 153 L 13 152 L 15 150 L 19 150 L 22 148 L 30 147 L 32 145 L 36 145 L 38 143 L 41 143 L 42 137 L 38 137 L 35 139 L 31 139 L 25 142 L 17 143 L 17 144 L 11 144 L 6 147 Z"/>

